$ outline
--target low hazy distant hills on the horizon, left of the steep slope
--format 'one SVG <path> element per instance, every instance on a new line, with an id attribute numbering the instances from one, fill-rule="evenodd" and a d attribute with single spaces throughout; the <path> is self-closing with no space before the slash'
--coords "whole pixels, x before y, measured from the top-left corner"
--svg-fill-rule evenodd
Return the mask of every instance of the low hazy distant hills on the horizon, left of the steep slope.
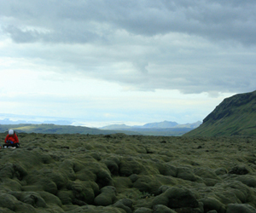
<path id="1" fill-rule="evenodd" d="M 9 119 L 2 120 L 2 123 L 8 123 Z M 58 125 L 58 124 L 20 124 L 23 121 L 16 121 L 19 124 L 0 124 L 0 132 L 7 132 L 13 129 L 16 132 L 25 133 L 44 133 L 44 134 L 90 134 L 90 135 L 109 135 L 115 133 L 124 133 L 126 135 L 164 135 L 164 136 L 180 136 L 184 133 L 193 130 L 201 124 L 197 122 L 194 124 L 177 124 L 176 122 L 160 122 L 145 124 L 143 126 L 127 126 L 109 125 L 102 129 L 88 128 L 73 125 Z M 62 121 L 61 121 L 62 122 Z M 170 128 L 171 127 L 171 128 Z"/>

